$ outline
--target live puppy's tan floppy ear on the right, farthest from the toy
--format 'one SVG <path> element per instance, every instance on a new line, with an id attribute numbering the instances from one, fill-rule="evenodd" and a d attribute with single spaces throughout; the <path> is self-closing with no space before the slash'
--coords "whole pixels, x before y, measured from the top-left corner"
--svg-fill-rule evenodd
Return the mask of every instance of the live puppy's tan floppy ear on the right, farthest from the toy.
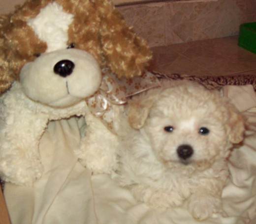
<path id="1" fill-rule="evenodd" d="M 226 128 L 228 131 L 228 138 L 231 143 L 240 143 L 244 139 L 245 132 L 245 117 L 236 109 L 236 107 L 227 103 L 227 122 Z"/>

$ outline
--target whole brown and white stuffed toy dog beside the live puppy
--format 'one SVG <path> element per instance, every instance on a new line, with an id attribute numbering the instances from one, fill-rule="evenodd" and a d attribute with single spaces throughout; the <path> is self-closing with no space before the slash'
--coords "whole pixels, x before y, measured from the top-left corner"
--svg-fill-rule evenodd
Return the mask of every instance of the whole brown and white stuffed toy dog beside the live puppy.
<path id="1" fill-rule="evenodd" d="M 40 138 L 49 121 L 71 116 L 84 116 L 87 124 L 74 149 L 81 163 L 111 173 L 116 135 L 90 108 L 104 107 L 98 92 L 113 92 L 107 74 L 142 75 L 150 59 L 146 42 L 108 0 L 27 0 L 2 16 L 0 178 L 19 185 L 40 178 Z"/>

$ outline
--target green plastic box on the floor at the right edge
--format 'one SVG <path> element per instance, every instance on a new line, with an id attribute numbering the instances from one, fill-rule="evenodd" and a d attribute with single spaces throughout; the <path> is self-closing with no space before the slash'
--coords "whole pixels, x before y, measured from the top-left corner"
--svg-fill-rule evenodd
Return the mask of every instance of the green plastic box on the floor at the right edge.
<path id="1" fill-rule="evenodd" d="M 240 25 L 238 46 L 256 53 L 256 23 Z"/>

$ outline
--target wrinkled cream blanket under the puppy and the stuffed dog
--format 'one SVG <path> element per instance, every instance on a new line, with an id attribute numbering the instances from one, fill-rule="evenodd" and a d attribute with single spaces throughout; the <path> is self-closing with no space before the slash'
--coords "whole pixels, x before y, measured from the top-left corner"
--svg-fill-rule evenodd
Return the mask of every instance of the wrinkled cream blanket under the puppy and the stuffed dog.
<path id="1" fill-rule="evenodd" d="M 108 175 L 92 175 L 72 154 L 85 127 L 72 118 L 51 122 L 42 136 L 42 178 L 31 188 L 5 185 L 12 224 L 256 224 L 256 94 L 251 85 L 225 86 L 224 94 L 249 124 L 243 145 L 230 158 L 224 213 L 196 222 L 184 207 L 156 212 Z"/>

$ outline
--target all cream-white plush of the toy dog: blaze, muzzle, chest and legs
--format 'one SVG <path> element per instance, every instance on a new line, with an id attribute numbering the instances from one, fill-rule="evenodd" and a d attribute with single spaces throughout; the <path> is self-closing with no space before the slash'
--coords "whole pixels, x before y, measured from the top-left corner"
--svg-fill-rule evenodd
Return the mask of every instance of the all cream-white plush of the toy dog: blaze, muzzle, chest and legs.
<path id="1" fill-rule="evenodd" d="M 71 116 L 83 116 L 87 124 L 79 149 L 74 148 L 81 163 L 95 173 L 110 174 L 116 167 L 117 136 L 86 104 L 100 86 L 100 65 L 85 50 L 66 49 L 73 17 L 53 2 L 27 21 L 47 50 L 26 63 L 19 82 L 0 96 L 2 180 L 32 185 L 43 173 L 38 145 L 48 122 Z M 56 71 L 56 65 L 68 73 Z"/>

